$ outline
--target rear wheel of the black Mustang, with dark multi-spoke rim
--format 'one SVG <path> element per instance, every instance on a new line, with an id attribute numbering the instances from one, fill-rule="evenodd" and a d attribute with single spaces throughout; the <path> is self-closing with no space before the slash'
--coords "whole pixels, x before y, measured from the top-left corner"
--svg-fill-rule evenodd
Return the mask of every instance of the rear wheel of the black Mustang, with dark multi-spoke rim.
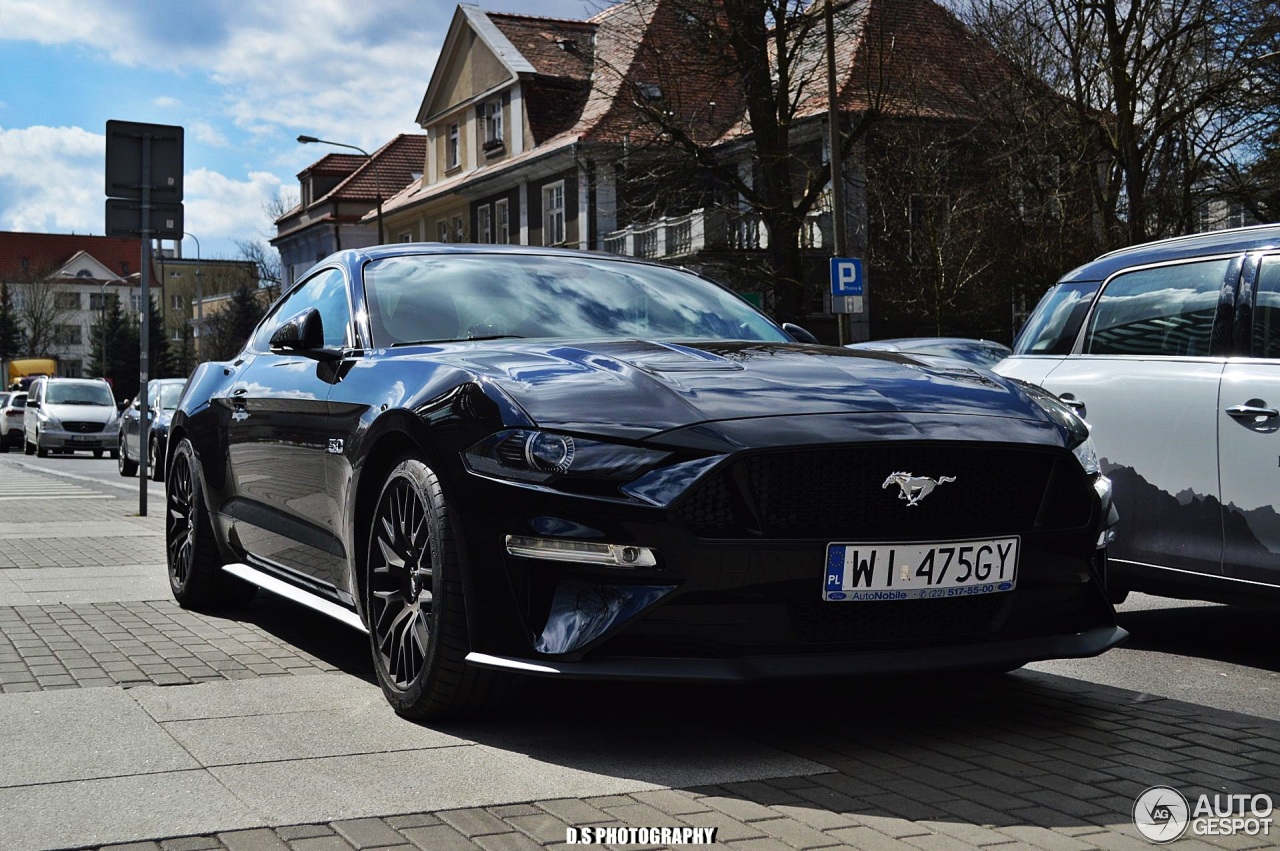
<path id="1" fill-rule="evenodd" d="M 248 603 L 257 586 L 223 571 L 191 440 L 178 444 L 169 473 L 164 540 L 173 599 L 184 609 Z"/>

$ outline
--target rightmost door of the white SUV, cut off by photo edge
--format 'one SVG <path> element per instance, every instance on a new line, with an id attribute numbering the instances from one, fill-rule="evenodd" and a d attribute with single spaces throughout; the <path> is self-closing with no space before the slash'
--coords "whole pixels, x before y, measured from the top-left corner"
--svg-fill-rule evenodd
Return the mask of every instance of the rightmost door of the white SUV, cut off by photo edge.
<path id="1" fill-rule="evenodd" d="M 1261 258 L 1219 393 L 1219 467 L 1226 576 L 1280 584 L 1280 255 Z"/>

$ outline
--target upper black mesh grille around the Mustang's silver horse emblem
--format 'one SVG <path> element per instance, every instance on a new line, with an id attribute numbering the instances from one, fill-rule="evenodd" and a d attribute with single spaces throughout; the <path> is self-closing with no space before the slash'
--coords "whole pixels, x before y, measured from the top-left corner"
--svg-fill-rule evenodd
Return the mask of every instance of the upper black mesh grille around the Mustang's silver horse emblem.
<path id="1" fill-rule="evenodd" d="M 1053 476 L 1059 453 L 989 444 L 886 441 L 746 456 L 699 482 L 676 517 L 701 537 L 908 540 L 1075 529 L 1089 520 L 1088 484 Z M 915 505 L 893 472 L 941 479 Z M 1041 525 L 1046 489 L 1055 493 Z M 1061 491 L 1061 493 L 1057 493 Z"/>

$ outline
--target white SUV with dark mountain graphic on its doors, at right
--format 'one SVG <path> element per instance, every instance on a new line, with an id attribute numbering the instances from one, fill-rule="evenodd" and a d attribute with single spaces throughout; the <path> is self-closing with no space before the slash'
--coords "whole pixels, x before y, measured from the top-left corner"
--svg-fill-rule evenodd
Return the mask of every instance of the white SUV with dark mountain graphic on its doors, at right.
<path id="1" fill-rule="evenodd" d="M 1280 601 L 1280 225 L 1068 273 L 995 370 L 1092 426 L 1120 512 L 1115 598 Z"/>

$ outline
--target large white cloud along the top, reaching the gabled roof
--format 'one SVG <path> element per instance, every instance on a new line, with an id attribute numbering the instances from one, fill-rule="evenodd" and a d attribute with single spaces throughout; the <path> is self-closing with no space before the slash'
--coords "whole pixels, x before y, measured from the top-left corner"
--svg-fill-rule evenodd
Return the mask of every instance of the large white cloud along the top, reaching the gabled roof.
<path id="1" fill-rule="evenodd" d="M 521 0 L 492 9 L 529 13 Z M 538 14 L 585 18 L 590 0 Z M 444 40 L 451 0 L 0 0 L 0 40 L 83 44 L 131 67 L 200 74 L 242 129 L 298 132 L 366 148 L 413 119 Z"/>

